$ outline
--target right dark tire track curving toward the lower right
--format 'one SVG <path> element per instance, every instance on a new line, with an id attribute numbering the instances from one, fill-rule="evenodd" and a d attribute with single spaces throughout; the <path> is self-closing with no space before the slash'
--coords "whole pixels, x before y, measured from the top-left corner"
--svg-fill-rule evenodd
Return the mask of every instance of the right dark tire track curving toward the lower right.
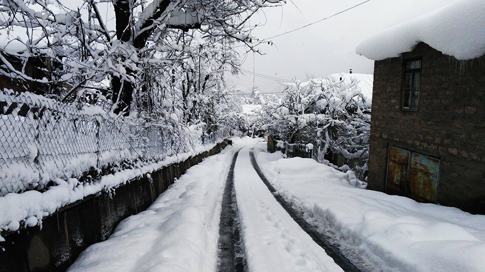
<path id="1" fill-rule="evenodd" d="M 336 264 L 338 264 L 343 271 L 346 272 L 360 272 L 360 270 L 345 256 L 343 256 L 339 248 L 332 243 L 328 242 L 325 237 L 323 237 L 315 227 L 311 226 L 300 214 L 300 212 L 296 211 L 291 207 L 291 204 L 285 201 L 283 196 L 280 196 L 278 192 L 275 190 L 275 187 L 266 179 L 263 172 L 259 168 L 258 163 L 256 162 L 256 157 L 254 156 L 254 151 L 251 149 L 249 152 L 251 157 L 251 165 L 253 166 L 254 170 L 258 173 L 259 178 L 263 181 L 266 185 L 268 190 L 271 194 L 275 197 L 276 201 L 285 209 L 288 214 L 290 214 L 291 218 L 315 241 L 319 246 L 321 246 L 328 256 L 332 257 Z"/>

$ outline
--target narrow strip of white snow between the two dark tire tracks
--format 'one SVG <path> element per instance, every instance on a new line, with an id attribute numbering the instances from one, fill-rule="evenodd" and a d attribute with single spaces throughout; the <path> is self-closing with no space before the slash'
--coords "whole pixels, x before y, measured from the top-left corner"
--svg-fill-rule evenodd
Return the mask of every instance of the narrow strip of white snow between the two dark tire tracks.
<path id="1" fill-rule="evenodd" d="M 248 271 L 342 271 L 276 202 L 251 165 L 244 147 L 235 167 Z"/>

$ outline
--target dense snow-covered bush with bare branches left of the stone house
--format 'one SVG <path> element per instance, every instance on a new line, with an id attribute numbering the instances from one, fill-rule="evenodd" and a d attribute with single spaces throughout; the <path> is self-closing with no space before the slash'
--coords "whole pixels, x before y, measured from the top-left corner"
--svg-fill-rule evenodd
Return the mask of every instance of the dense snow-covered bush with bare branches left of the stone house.
<path id="1" fill-rule="evenodd" d="M 319 162 L 331 153 L 365 162 L 371 105 L 356 83 L 332 78 L 286 83 L 282 97 L 262 99 L 263 128 L 289 143 L 312 143 Z"/>

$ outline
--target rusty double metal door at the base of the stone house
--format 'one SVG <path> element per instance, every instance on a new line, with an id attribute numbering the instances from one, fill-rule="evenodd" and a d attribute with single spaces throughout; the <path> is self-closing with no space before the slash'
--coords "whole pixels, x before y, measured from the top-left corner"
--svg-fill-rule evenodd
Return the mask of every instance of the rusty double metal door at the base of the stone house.
<path id="1" fill-rule="evenodd" d="M 439 160 L 389 146 L 386 192 L 436 203 Z"/>

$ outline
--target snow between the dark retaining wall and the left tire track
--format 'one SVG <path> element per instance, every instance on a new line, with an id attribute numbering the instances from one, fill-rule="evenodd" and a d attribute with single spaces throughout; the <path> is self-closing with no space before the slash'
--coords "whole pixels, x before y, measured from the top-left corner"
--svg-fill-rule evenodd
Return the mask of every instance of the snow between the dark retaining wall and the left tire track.
<path id="1" fill-rule="evenodd" d="M 217 265 L 221 201 L 232 155 L 249 138 L 191 167 L 146 210 L 84 250 L 70 272 L 203 271 Z"/>

